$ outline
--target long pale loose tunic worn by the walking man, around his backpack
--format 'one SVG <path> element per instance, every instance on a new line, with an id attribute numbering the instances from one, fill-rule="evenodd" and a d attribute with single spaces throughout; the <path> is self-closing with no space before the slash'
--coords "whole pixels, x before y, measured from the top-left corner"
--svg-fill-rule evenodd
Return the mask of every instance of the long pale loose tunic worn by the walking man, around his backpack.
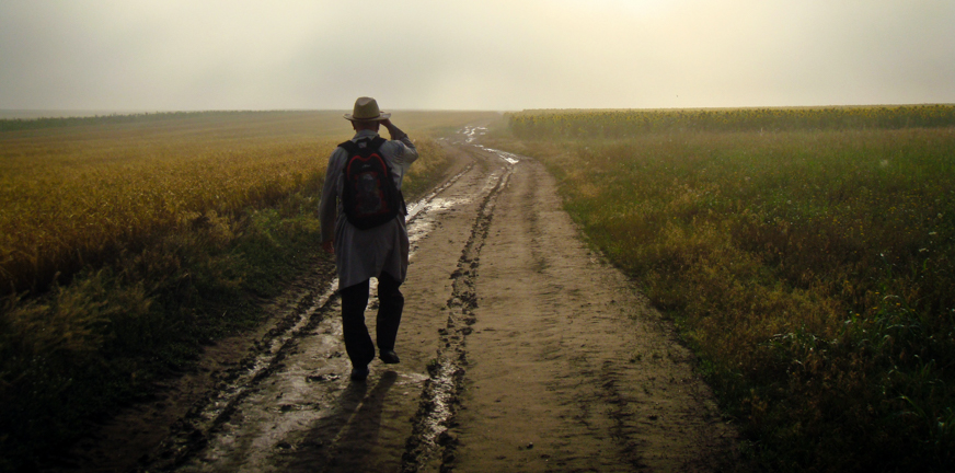
<path id="1" fill-rule="evenodd" d="M 401 191 L 404 174 L 417 160 L 418 153 L 407 135 L 398 130 L 398 139 L 381 146 L 381 157 L 391 168 L 394 184 Z M 352 141 L 375 138 L 378 134 L 361 130 Z M 319 204 L 319 219 L 322 223 L 322 241 L 335 240 L 335 265 L 338 269 L 338 287 L 346 288 L 366 279 L 388 273 L 399 281 L 407 274 L 407 229 L 404 226 L 404 209 L 394 220 L 368 230 L 359 230 L 348 222 L 342 209 L 342 192 L 345 185 L 342 170 L 348 153 L 336 148 L 329 158 L 322 201 Z"/>

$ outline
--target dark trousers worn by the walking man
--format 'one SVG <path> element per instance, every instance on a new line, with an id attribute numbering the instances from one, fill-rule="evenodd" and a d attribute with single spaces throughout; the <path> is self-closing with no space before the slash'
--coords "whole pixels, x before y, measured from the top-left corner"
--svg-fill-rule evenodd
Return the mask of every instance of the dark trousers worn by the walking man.
<path id="1" fill-rule="evenodd" d="M 342 293 L 342 332 L 345 338 L 345 350 L 352 359 L 353 367 L 367 366 L 375 359 L 375 344 L 365 325 L 365 309 L 368 307 L 368 285 L 365 279 L 355 286 L 341 290 Z M 401 323 L 401 311 L 404 309 L 404 296 L 398 290 L 401 282 L 388 273 L 378 276 L 378 318 L 376 335 L 378 349 L 394 349 L 398 337 L 398 325 Z"/>

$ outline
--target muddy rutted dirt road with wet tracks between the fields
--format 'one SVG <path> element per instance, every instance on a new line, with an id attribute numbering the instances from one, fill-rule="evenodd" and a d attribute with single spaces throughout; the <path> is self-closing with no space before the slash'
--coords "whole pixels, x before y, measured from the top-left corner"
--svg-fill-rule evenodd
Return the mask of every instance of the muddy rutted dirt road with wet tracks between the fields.
<path id="1" fill-rule="evenodd" d="M 335 287 L 306 287 L 141 471 L 710 471 L 726 458 L 734 432 L 669 325 L 582 243 L 542 165 L 476 134 L 446 142 L 458 169 L 411 208 L 402 362 L 349 382 Z"/>

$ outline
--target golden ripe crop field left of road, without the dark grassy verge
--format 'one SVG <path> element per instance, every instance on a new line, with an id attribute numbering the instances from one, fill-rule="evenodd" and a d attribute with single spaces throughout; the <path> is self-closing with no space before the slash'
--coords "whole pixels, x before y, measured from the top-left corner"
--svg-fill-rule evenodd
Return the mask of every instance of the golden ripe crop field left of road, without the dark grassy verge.
<path id="1" fill-rule="evenodd" d="M 43 290 L 204 216 L 315 187 L 352 134 L 337 112 L 168 115 L 0 132 L 0 293 Z M 433 134 L 476 116 L 409 112 L 396 124 L 435 154 Z"/>

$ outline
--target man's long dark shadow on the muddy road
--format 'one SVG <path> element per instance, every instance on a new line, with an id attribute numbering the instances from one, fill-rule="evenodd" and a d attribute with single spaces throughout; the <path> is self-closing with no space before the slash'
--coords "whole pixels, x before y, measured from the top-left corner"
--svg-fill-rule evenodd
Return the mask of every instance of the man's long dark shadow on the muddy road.
<path id="1" fill-rule="evenodd" d="M 378 445 L 381 413 L 398 373 L 386 371 L 368 392 L 353 382 L 338 396 L 333 414 L 324 416 L 291 453 L 288 471 L 364 471 Z"/>

